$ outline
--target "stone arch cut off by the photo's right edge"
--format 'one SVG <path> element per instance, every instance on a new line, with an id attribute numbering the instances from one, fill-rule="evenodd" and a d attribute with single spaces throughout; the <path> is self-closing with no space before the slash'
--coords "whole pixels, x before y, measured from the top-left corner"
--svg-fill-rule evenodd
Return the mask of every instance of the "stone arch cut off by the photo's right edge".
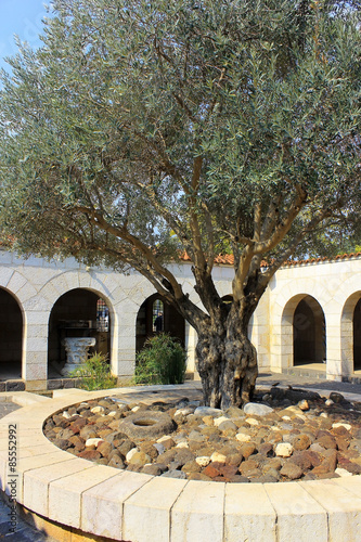
<path id="1" fill-rule="evenodd" d="M 346 300 L 340 322 L 341 370 L 345 376 L 361 370 L 361 292 Z"/>

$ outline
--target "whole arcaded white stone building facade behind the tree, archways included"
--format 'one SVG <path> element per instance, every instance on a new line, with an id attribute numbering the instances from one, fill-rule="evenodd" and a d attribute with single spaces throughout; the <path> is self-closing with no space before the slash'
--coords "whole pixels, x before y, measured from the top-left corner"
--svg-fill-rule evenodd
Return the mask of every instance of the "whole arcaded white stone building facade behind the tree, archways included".
<path id="1" fill-rule="evenodd" d="M 172 271 L 199 304 L 191 264 L 175 264 Z M 233 268 L 216 266 L 214 278 L 220 295 L 231 295 Z M 95 337 L 94 350 L 108 356 L 113 374 L 129 380 L 137 349 L 159 330 L 184 344 L 188 371 L 196 377 L 194 330 L 137 272 L 88 268 L 72 259 L 20 259 L 0 250 L 2 380 L 22 378 L 28 390 L 55 387 L 68 337 Z M 260 372 L 308 366 L 330 379 L 361 376 L 361 255 L 280 269 L 254 314 L 249 335 Z"/>

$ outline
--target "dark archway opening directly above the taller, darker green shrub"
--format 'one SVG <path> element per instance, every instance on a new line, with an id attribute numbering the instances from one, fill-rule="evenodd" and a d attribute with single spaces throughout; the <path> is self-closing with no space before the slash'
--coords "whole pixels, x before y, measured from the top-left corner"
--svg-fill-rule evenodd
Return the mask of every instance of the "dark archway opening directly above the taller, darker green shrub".
<path id="1" fill-rule="evenodd" d="M 169 305 L 159 294 L 145 299 L 137 315 L 137 352 L 142 350 L 147 338 L 157 333 L 169 333 L 181 345 L 185 345 L 185 324 L 178 310 Z"/>

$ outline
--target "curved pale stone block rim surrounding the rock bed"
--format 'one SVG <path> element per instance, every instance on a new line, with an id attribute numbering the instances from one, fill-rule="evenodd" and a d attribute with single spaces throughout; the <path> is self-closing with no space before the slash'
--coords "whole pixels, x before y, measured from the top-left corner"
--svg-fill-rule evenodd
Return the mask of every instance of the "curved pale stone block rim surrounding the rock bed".
<path id="1" fill-rule="evenodd" d="M 167 388 L 177 389 L 66 389 L 40 401 L 25 393 L 25 406 L 0 423 L 1 489 L 10 494 L 14 486 L 5 443 L 9 425 L 16 424 L 17 502 L 86 533 L 131 542 L 360 540 L 361 476 L 247 485 L 153 477 L 74 457 L 42 434 L 49 415 L 81 400 L 144 390 L 160 400 Z M 186 393 L 183 386 L 179 391 Z"/>

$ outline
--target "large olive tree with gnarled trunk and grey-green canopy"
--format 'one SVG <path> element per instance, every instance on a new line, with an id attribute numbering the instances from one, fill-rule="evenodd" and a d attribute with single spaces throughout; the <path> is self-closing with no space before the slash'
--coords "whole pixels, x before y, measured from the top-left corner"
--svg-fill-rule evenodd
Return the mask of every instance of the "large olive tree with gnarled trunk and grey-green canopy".
<path id="1" fill-rule="evenodd" d="M 206 403 L 243 404 L 247 327 L 275 271 L 360 224 L 358 2 L 52 9 L 43 47 L 20 44 L 2 74 L 2 238 L 137 270 L 196 330 Z M 231 304 L 212 279 L 224 251 Z M 184 254 L 201 304 L 171 272 Z"/>

